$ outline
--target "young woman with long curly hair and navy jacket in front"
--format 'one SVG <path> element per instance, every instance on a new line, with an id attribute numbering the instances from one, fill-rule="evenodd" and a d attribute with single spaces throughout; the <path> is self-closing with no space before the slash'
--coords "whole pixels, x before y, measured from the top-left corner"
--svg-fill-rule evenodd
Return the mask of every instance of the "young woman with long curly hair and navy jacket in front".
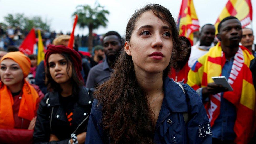
<path id="1" fill-rule="evenodd" d="M 199 95 L 167 75 L 185 55 L 168 9 L 150 4 L 126 27 L 124 51 L 94 93 L 85 143 L 211 143 Z"/>

